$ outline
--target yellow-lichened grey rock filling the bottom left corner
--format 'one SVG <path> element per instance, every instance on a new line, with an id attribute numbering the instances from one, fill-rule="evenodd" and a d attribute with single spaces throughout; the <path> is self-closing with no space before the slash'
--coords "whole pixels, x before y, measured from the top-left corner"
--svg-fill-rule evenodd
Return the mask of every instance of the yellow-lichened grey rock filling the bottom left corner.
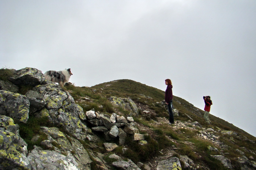
<path id="1" fill-rule="evenodd" d="M 27 144 L 19 135 L 13 119 L 0 116 L 0 169 L 31 169 L 26 158 Z"/>

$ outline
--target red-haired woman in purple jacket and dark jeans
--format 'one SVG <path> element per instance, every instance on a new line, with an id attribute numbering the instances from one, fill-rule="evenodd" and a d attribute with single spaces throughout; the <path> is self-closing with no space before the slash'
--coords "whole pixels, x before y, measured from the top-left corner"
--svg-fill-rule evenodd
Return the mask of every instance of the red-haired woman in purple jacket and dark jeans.
<path id="1" fill-rule="evenodd" d="M 165 90 L 165 102 L 168 106 L 169 111 L 169 124 L 174 124 L 174 117 L 172 112 L 172 81 L 170 79 L 165 80 L 165 84 L 167 85 L 167 88 Z"/>

